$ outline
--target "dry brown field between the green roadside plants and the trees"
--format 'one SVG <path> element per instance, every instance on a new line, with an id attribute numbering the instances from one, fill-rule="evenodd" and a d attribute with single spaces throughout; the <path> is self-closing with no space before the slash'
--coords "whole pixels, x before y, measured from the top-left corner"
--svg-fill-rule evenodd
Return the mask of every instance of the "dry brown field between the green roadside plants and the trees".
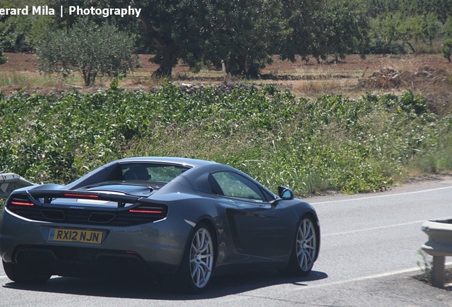
<path id="1" fill-rule="evenodd" d="M 60 92 L 77 87 L 81 91 L 93 91 L 108 87 L 106 78 L 99 78 L 94 87 L 83 86 L 82 79 L 74 74 L 68 80 L 58 75 L 38 72 L 35 55 L 6 53 L 9 62 L 0 65 L 0 90 L 4 94 L 13 91 Z M 140 55 L 141 66 L 120 82 L 122 87 L 150 90 L 160 80 L 151 77 L 157 66 L 149 62 L 151 55 Z M 173 82 L 212 85 L 225 81 L 221 71 L 201 70 L 194 74 L 186 65 L 173 70 Z M 315 98 L 323 94 L 342 93 L 351 98 L 365 92 L 392 92 L 397 94 L 412 90 L 426 97 L 437 112 L 452 109 L 452 64 L 441 55 L 369 55 L 364 60 L 349 55 L 339 63 L 291 63 L 277 57 L 274 63 L 262 71 L 259 80 L 242 80 L 226 77 L 226 82 L 252 82 L 257 85 L 273 83 L 281 90 L 288 88 L 297 97 Z"/>

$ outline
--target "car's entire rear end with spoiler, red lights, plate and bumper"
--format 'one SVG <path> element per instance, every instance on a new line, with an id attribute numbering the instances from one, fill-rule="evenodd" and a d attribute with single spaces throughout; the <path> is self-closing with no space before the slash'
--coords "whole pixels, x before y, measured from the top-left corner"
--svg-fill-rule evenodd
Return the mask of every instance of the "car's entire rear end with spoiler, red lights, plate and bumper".
<path id="1" fill-rule="evenodd" d="M 171 273 L 189 227 L 168 218 L 166 204 L 146 197 L 112 190 L 26 188 L 6 200 L 0 256 L 6 266 L 32 275 Z"/>

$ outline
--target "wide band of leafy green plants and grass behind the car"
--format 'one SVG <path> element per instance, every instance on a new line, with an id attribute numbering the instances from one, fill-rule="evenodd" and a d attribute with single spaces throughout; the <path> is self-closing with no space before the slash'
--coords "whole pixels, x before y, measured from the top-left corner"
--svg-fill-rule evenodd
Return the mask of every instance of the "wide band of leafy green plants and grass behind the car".
<path id="1" fill-rule="evenodd" d="M 412 92 L 297 100 L 271 85 L 188 95 L 166 82 L 155 93 L 18 93 L 0 99 L 0 171 L 68 183 L 117 158 L 185 156 L 230 164 L 273 190 L 370 192 L 410 167 L 452 169 L 451 124 Z"/>

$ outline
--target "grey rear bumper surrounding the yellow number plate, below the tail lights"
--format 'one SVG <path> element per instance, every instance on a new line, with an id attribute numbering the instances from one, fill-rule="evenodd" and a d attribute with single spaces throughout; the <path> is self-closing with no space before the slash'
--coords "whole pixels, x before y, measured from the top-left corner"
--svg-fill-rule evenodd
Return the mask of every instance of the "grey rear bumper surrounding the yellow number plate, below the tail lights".
<path id="1" fill-rule="evenodd" d="M 104 232 L 102 244 L 50 242 L 50 228 Z M 61 276 L 102 275 L 118 271 L 172 274 L 181 263 L 192 225 L 178 217 L 129 227 L 68 225 L 27 220 L 4 209 L 0 220 L 0 256 L 4 262 L 43 266 Z M 146 272 L 147 274 L 147 272 Z"/>

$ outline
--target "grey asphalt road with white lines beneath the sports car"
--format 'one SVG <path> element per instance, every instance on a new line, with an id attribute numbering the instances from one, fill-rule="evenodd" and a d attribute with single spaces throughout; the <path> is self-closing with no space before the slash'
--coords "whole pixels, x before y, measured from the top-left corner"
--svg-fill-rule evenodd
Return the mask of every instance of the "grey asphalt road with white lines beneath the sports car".
<path id="1" fill-rule="evenodd" d="M 0 306 L 452 306 L 452 286 L 436 289 L 414 278 L 427 239 L 421 224 L 452 217 L 451 200 L 450 177 L 384 193 L 308 198 L 321 220 L 322 247 L 306 278 L 219 276 L 205 293 L 183 296 L 129 281 L 55 277 L 21 286 L 0 269 Z"/>

